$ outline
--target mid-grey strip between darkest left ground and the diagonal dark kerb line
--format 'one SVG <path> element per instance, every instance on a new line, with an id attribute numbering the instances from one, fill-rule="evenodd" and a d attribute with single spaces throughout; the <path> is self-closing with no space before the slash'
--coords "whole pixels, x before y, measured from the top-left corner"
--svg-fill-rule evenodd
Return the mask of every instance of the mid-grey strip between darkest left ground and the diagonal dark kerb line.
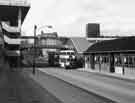
<path id="1" fill-rule="evenodd" d="M 31 72 L 27 73 L 31 74 Z M 34 76 L 31 74 L 31 78 L 59 98 L 63 103 L 115 103 L 112 100 L 78 88 L 41 71 L 36 71 Z"/>

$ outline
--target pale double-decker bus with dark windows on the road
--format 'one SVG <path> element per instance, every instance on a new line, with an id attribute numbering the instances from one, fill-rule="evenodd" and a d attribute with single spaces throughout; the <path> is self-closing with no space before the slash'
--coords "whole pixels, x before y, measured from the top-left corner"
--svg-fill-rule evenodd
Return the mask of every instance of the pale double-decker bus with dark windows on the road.
<path id="1" fill-rule="evenodd" d="M 76 68 L 76 55 L 73 50 L 61 50 L 59 54 L 59 65 L 62 68 Z"/>

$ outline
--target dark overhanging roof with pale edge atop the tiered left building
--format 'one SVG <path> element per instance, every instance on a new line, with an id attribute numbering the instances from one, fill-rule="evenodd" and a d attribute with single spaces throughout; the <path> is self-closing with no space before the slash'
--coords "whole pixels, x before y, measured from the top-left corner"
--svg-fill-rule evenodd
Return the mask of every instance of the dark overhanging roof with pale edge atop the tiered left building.
<path id="1" fill-rule="evenodd" d="M 22 10 L 22 22 L 30 8 L 27 0 L 0 0 L 0 18 L 1 21 L 10 20 L 16 22 L 18 19 L 18 9 Z"/>

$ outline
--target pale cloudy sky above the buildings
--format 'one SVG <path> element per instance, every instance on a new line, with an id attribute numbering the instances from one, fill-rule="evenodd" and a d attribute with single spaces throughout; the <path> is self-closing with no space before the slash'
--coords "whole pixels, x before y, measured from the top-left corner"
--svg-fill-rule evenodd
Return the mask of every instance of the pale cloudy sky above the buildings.
<path id="1" fill-rule="evenodd" d="M 101 35 L 135 35 L 134 5 L 135 0 L 31 0 L 22 31 L 33 35 L 37 25 L 38 31 L 85 37 L 86 24 L 99 23 Z"/>

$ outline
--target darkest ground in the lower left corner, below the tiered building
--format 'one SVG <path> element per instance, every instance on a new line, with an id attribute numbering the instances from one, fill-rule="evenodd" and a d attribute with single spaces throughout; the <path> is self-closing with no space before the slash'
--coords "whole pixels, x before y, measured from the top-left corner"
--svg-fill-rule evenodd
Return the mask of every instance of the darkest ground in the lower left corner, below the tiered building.
<path id="1" fill-rule="evenodd" d="M 0 69 L 0 103 L 62 103 L 19 69 Z"/>

